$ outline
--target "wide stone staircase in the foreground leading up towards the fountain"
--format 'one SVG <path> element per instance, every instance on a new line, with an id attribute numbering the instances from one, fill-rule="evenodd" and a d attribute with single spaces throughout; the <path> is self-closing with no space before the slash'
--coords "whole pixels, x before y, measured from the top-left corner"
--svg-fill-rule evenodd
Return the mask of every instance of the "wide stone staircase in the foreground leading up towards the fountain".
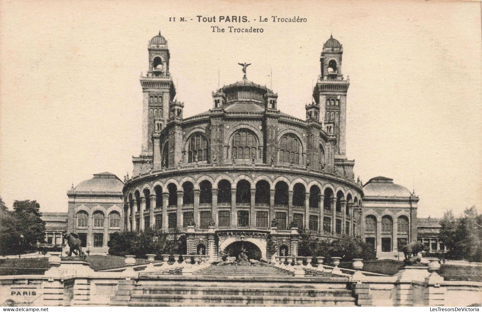
<path id="1" fill-rule="evenodd" d="M 355 306 L 344 280 L 300 279 L 272 266 L 210 266 L 174 276 L 133 281 L 129 306 Z"/>

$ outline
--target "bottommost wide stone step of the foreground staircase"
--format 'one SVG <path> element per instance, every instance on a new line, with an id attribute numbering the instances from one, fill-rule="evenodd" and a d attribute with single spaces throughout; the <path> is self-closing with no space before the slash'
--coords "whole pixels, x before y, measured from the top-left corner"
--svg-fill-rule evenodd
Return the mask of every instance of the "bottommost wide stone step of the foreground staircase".
<path id="1" fill-rule="evenodd" d="M 258 305 L 308 305 L 308 306 L 338 306 L 345 303 L 354 305 L 353 297 L 281 297 L 281 296 L 227 296 L 227 295 L 170 295 L 170 294 L 133 294 L 131 303 L 133 306 L 158 306 L 171 303 L 180 305 L 210 305 L 212 303 L 231 304 L 245 306 L 247 304 Z"/>

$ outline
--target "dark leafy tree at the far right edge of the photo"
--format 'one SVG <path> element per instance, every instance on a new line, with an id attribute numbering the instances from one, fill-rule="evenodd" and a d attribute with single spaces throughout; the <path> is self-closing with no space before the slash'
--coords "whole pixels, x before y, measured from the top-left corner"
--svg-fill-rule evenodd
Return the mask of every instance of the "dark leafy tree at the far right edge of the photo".
<path id="1" fill-rule="evenodd" d="M 455 218 L 452 211 L 444 213 L 439 239 L 449 251 L 445 257 L 455 260 L 480 262 L 482 260 L 482 214 L 477 214 L 475 206 Z"/>

